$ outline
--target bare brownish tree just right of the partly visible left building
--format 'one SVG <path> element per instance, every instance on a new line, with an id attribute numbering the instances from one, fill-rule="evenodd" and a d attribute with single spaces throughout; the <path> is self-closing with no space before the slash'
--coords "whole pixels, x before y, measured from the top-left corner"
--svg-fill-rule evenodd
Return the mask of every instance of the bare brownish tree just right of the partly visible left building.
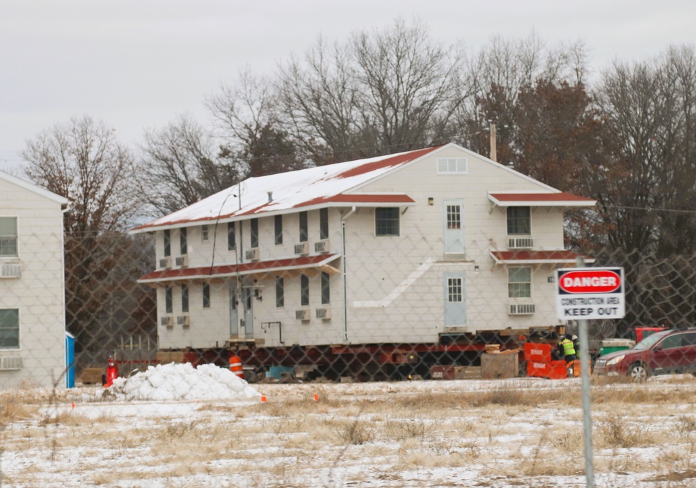
<path id="1" fill-rule="evenodd" d="M 141 203 L 130 152 L 111 127 L 83 116 L 45 130 L 27 143 L 22 156 L 34 182 L 70 200 L 64 218 L 65 321 L 77 353 L 104 349 L 99 340 L 104 323 L 116 315 L 121 330 L 152 333 L 155 308 L 117 312 L 114 299 L 119 290 L 128 290 L 134 303 L 152 303 L 152 290 L 134 284 L 148 243 L 122 232 Z"/>

